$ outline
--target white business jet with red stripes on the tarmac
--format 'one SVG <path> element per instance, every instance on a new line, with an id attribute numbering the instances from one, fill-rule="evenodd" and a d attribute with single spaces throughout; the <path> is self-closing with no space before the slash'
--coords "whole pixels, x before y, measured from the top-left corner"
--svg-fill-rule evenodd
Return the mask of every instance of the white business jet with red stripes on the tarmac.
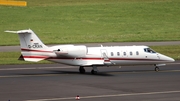
<path id="1" fill-rule="evenodd" d="M 99 46 L 55 45 L 46 46 L 31 30 L 5 31 L 19 35 L 21 56 L 24 61 L 38 62 L 48 60 L 56 63 L 79 66 L 79 72 L 85 73 L 84 67 L 92 67 L 92 74 L 99 66 L 154 65 L 159 66 L 175 60 L 157 53 L 148 46 Z"/>

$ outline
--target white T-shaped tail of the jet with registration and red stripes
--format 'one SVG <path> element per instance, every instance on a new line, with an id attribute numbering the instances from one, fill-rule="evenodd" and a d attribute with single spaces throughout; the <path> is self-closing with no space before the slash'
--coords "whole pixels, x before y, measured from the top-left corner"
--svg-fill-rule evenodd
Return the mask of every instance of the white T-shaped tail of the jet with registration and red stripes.
<path id="1" fill-rule="evenodd" d="M 32 30 L 5 31 L 19 35 L 21 54 L 25 61 L 38 62 L 48 58 L 46 52 L 52 52 Z"/>

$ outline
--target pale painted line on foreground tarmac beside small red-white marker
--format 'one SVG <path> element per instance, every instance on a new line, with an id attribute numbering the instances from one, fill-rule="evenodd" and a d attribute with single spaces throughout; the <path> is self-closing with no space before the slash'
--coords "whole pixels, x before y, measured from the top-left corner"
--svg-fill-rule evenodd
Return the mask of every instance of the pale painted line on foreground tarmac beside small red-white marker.
<path id="1" fill-rule="evenodd" d="M 91 98 L 124 97 L 124 96 L 140 96 L 140 95 L 172 94 L 172 93 L 180 93 L 180 91 L 162 91 L 162 92 L 146 92 L 146 93 L 129 93 L 129 94 L 114 94 L 114 95 L 82 96 L 80 98 L 81 99 L 91 99 Z M 36 100 L 25 100 L 25 101 L 57 101 L 57 100 L 71 100 L 71 99 L 75 99 L 75 97 L 36 99 Z"/>

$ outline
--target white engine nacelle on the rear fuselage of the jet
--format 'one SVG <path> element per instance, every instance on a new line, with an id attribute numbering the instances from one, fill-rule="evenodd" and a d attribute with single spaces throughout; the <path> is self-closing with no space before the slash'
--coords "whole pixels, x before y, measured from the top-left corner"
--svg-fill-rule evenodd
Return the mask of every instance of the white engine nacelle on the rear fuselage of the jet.
<path id="1" fill-rule="evenodd" d="M 57 49 L 55 53 L 58 56 L 80 58 L 86 56 L 87 51 L 86 46 L 68 46 Z"/>

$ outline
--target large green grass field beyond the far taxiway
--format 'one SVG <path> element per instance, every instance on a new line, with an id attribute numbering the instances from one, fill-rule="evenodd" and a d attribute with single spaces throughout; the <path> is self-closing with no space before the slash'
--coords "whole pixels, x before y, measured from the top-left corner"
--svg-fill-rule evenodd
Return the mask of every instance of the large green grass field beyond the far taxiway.
<path id="1" fill-rule="evenodd" d="M 5 30 L 31 28 L 45 44 L 180 40 L 179 0 L 27 0 L 0 6 L 0 45 L 19 45 Z"/>

